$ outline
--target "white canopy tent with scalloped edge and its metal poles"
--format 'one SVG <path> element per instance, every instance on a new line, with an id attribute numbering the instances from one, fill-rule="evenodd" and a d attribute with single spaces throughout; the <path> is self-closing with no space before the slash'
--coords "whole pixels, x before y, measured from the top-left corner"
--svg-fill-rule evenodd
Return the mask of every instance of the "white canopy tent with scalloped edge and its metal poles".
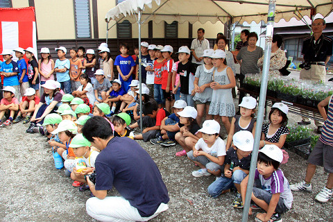
<path id="1" fill-rule="evenodd" d="M 305 15 L 311 17 L 312 15 L 316 15 L 316 13 L 320 13 L 323 17 L 326 17 L 333 9 L 332 0 L 297 0 L 295 1 L 297 5 L 293 5 L 290 2 L 290 0 L 126 0 L 109 10 L 105 15 L 105 22 L 107 23 L 109 23 L 111 19 L 116 22 L 121 22 L 124 18 L 131 23 L 137 22 L 137 24 L 139 24 L 139 45 L 141 43 L 141 24 L 149 21 L 153 21 L 157 24 L 162 21 L 169 24 L 173 21 L 177 21 L 180 24 L 184 22 L 189 22 L 191 24 L 200 22 L 204 24 L 208 21 L 213 24 L 218 21 L 222 23 L 230 22 L 230 24 L 233 24 L 234 22 L 250 23 L 252 21 L 258 23 L 261 20 L 267 22 L 257 128 L 255 129 L 255 143 L 253 145 L 242 222 L 248 220 L 248 210 L 250 208 L 255 167 L 257 165 L 259 141 L 264 120 L 273 24 L 274 22 L 280 21 L 280 19 L 286 21 L 289 21 L 292 17 L 302 19 Z M 109 29 L 110 28 L 107 28 L 107 37 Z M 141 51 L 139 51 L 139 62 L 141 62 Z M 142 110 L 141 69 L 139 69 L 139 80 L 140 110 Z M 140 118 L 142 118 L 142 115 Z M 142 123 L 142 121 L 140 121 L 140 123 Z M 142 124 L 140 128 L 142 129 Z"/>

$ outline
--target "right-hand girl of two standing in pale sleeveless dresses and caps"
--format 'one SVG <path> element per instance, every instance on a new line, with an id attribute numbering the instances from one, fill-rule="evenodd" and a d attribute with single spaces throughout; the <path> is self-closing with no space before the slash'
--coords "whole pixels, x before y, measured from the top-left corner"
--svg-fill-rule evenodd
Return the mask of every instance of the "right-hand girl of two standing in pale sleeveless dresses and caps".
<path id="1" fill-rule="evenodd" d="M 222 123 L 229 134 L 229 117 L 234 116 L 234 101 L 232 99 L 231 89 L 235 87 L 236 80 L 232 69 L 228 67 L 225 60 L 225 52 L 216 49 L 210 56 L 215 67 L 213 71 L 213 82 L 210 87 L 213 89 L 212 102 L 208 114 L 215 115 L 215 119 L 221 117 Z"/>

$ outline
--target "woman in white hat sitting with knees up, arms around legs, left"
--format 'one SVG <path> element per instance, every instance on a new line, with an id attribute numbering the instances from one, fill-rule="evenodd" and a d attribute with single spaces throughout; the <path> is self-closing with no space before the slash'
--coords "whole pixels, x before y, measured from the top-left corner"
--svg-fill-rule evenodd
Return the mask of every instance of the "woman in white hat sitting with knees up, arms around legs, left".
<path id="1" fill-rule="evenodd" d="M 62 94 L 56 89 L 57 86 L 54 80 L 47 80 L 42 87 L 44 87 L 44 94 L 40 98 L 40 103 L 38 103 L 35 112 L 33 112 L 33 117 L 31 117 L 31 123 L 26 133 L 44 133 L 42 128 L 44 117 L 58 110 L 59 105 L 61 105 Z"/>

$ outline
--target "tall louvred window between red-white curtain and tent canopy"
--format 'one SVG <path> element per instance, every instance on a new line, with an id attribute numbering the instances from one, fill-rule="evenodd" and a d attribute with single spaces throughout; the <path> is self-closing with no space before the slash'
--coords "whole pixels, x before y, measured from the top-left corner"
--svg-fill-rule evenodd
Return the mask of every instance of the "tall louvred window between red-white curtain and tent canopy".
<path id="1" fill-rule="evenodd" d="M 74 0 L 76 37 L 91 37 L 89 0 Z"/>

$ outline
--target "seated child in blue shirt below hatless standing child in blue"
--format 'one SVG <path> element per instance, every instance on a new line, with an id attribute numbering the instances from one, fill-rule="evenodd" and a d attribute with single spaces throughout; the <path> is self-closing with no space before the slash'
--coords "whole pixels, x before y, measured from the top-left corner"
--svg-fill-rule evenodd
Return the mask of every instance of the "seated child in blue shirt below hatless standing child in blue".
<path id="1" fill-rule="evenodd" d="M 123 91 L 123 88 L 121 88 L 121 81 L 119 79 L 113 80 L 112 87 L 109 89 L 108 92 L 106 92 L 106 94 L 110 95 L 110 96 L 108 96 L 108 99 L 105 99 L 105 101 L 103 101 L 103 103 L 108 103 L 110 105 L 111 112 L 110 112 L 110 114 L 108 114 L 108 116 L 109 115 L 112 116 L 114 114 L 114 112 L 116 112 L 120 108 L 121 96 L 126 94 L 126 92 Z"/>

